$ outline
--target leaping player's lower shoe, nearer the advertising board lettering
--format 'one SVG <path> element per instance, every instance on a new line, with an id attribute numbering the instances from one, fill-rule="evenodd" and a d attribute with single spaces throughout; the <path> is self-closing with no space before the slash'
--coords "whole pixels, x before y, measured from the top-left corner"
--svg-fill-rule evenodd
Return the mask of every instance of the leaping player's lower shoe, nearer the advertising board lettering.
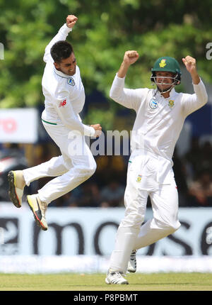
<path id="1" fill-rule="evenodd" d="M 37 226 L 40 226 L 42 230 L 46 231 L 48 228 L 47 221 L 45 218 L 45 212 L 47 211 L 47 204 L 40 201 L 37 194 L 28 195 L 28 205 L 30 206 L 33 216 L 37 223 Z"/>

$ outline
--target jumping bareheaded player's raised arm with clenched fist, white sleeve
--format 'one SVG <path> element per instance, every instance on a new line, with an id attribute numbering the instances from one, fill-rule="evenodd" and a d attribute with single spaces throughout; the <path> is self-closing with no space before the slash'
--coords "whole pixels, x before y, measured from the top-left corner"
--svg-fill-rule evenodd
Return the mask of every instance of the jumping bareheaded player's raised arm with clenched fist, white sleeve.
<path id="1" fill-rule="evenodd" d="M 78 18 L 74 15 L 69 15 L 66 17 L 66 23 L 64 23 L 64 25 L 61 26 L 57 35 L 55 35 L 54 38 L 52 38 L 50 43 L 45 48 L 45 55 L 43 57 L 43 60 L 45 62 L 47 62 L 48 60 L 54 62 L 52 59 L 52 56 L 50 54 L 52 45 L 54 45 L 54 43 L 57 43 L 57 41 L 59 41 L 59 40 L 66 40 L 66 37 L 69 35 L 69 32 L 71 32 L 76 21 L 78 21 Z"/>

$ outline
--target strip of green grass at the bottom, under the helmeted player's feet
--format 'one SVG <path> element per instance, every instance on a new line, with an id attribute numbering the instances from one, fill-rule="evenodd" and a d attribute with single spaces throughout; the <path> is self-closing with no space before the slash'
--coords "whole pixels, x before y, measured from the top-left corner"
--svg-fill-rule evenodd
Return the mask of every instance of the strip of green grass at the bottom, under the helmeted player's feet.
<path id="1" fill-rule="evenodd" d="M 1 291 L 212 291 L 212 274 L 127 275 L 129 285 L 107 285 L 104 274 L 0 274 Z"/>

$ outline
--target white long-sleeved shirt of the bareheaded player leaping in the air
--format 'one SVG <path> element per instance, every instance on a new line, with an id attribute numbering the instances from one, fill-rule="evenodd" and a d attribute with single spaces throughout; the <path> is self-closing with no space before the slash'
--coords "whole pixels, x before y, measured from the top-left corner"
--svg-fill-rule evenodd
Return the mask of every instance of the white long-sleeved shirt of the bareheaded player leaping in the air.
<path id="1" fill-rule="evenodd" d="M 66 75 L 54 67 L 54 60 L 50 54 L 52 45 L 59 40 L 66 40 L 71 30 L 65 23 L 45 49 L 43 60 L 46 66 L 42 77 L 45 110 L 42 112 L 42 121 L 52 125 L 64 125 L 70 131 L 92 136 L 95 133 L 94 128 L 84 125 L 78 114 L 82 111 L 86 99 L 79 67 L 76 66 L 76 73 L 73 76 Z"/>

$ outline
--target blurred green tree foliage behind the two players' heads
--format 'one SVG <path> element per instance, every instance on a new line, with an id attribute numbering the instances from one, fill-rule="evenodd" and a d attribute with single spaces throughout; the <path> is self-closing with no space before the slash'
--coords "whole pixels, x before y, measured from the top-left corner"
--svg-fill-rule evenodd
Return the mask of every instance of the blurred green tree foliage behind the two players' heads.
<path id="1" fill-rule="evenodd" d="M 126 86 L 150 87 L 150 70 L 163 55 L 196 57 L 199 73 L 211 82 L 206 44 L 211 41 L 211 0 L 0 0 L 0 107 L 43 103 L 41 79 L 45 46 L 64 24 L 78 16 L 67 40 L 73 45 L 86 93 L 109 98 L 124 52 L 140 59 L 129 70 Z M 114 103 L 110 111 L 116 111 Z"/>

